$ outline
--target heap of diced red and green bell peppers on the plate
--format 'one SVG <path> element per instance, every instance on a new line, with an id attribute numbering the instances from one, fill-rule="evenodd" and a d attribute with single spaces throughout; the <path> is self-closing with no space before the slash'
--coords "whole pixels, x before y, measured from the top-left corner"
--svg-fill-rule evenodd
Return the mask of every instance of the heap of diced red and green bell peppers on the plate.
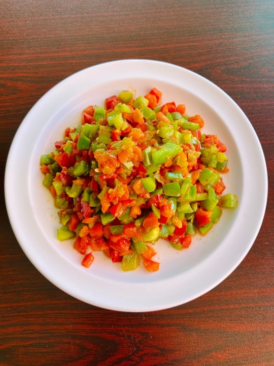
<path id="1" fill-rule="evenodd" d="M 155 87 L 137 98 L 122 90 L 105 108 L 88 106 L 81 124 L 41 157 L 43 185 L 59 209 L 57 238 L 73 239 L 85 267 L 102 251 L 125 271 L 141 263 L 157 271 L 159 238 L 188 248 L 223 208 L 237 207 L 237 196 L 223 193 L 226 146 L 201 132 L 200 115 L 161 101 Z"/>

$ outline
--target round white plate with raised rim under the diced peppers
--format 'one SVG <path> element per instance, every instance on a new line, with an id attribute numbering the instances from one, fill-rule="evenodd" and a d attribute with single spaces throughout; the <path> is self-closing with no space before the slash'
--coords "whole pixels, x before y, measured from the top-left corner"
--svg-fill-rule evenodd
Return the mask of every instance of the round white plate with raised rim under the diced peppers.
<path id="1" fill-rule="evenodd" d="M 42 186 L 40 157 L 54 149 L 64 129 L 77 126 L 90 104 L 104 105 L 122 89 L 136 96 L 153 87 L 163 102 L 187 106 L 200 114 L 205 133 L 218 134 L 227 146 L 230 172 L 225 193 L 239 198 L 226 209 L 205 237 L 195 237 L 188 250 L 156 243 L 161 265 L 155 273 L 143 267 L 123 272 L 120 264 L 95 253 L 89 269 L 72 241 L 59 242 L 57 209 Z M 131 59 L 82 70 L 54 86 L 32 107 L 20 125 L 6 167 L 5 195 L 14 233 L 30 261 L 63 291 L 95 306 L 129 312 L 177 306 L 211 290 L 244 259 L 262 223 L 267 200 L 267 171 L 258 137 L 243 111 L 219 87 L 181 67 L 153 60 Z"/>

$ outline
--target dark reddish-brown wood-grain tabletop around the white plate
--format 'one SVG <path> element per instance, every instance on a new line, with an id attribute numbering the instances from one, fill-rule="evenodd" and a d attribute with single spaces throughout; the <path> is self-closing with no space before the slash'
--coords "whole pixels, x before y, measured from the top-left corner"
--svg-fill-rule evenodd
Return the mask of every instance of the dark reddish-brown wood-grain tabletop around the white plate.
<path id="1" fill-rule="evenodd" d="M 272 0 L 1 2 L 1 366 L 274 365 L 273 8 Z M 28 110 L 66 76 L 121 58 L 174 63 L 216 83 L 249 117 L 268 168 L 265 218 L 241 265 L 209 293 L 151 313 L 99 309 L 56 288 L 24 255 L 5 208 L 8 150 Z"/>

